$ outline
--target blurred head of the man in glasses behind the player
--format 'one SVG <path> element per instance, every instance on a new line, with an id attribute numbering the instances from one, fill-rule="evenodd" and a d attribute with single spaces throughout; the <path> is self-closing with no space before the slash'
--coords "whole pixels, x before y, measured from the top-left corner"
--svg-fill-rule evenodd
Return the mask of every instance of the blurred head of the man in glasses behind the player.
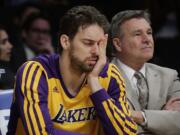
<path id="1" fill-rule="evenodd" d="M 22 25 L 22 40 L 32 53 L 48 53 L 54 52 L 52 46 L 51 23 L 45 14 L 32 14 Z M 31 56 L 27 57 L 30 59 Z"/>

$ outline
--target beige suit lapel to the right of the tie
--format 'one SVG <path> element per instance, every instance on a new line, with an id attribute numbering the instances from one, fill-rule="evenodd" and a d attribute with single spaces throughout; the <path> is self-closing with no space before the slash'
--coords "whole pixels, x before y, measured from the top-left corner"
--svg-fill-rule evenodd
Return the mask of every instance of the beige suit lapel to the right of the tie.
<path id="1" fill-rule="evenodd" d="M 150 68 L 148 64 L 146 64 L 146 76 L 147 76 L 147 82 L 149 87 L 149 101 L 148 101 L 148 109 L 154 108 L 157 106 L 159 96 L 159 90 L 160 90 L 160 78 L 157 71 Z"/>

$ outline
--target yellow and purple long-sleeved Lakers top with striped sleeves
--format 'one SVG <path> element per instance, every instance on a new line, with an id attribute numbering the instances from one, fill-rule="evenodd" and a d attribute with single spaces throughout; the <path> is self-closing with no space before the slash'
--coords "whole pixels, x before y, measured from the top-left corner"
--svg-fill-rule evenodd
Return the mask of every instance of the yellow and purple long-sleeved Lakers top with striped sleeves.
<path id="1" fill-rule="evenodd" d="M 72 96 L 63 82 L 59 59 L 59 55 L 41 55 L 19 69 L 9 134 L 24 130 L 30 135 L 101 135 L 101 128 L 107 135 L 136 133 L 124 80 L 115 65 L 106 64 L 100 73 L 103 89 L 92 94 L 84 80 Z"/>

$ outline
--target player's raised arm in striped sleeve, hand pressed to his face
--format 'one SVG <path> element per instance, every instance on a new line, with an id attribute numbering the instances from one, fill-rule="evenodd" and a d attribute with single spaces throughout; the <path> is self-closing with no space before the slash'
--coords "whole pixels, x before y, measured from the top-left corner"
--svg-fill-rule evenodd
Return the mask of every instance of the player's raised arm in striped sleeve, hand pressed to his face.
<path id="1" fill-rule="evenodd" d="M 108 93 L 99 81 L 100 71 L 106 64 L 107 35 L 99 43 L 99 59 L 92 72 L 88 74 L 88 84 L 92 90 L 91 99 L 107 135 L 135 135 L 137 126 L 130 118 L 124 89 L 124 81 L 114 65 L 109 67 Z"/>

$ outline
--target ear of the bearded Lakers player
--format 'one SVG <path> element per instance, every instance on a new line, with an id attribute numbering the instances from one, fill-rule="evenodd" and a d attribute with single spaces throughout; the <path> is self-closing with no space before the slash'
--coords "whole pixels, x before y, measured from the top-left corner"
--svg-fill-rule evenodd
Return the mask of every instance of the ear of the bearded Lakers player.
<path id="1" fill-rule="evenodd" d="M 67 50 L 70 47 L 69 37 L 66 34 L 62 34 L 59 41 L 64 50 Z"/>

